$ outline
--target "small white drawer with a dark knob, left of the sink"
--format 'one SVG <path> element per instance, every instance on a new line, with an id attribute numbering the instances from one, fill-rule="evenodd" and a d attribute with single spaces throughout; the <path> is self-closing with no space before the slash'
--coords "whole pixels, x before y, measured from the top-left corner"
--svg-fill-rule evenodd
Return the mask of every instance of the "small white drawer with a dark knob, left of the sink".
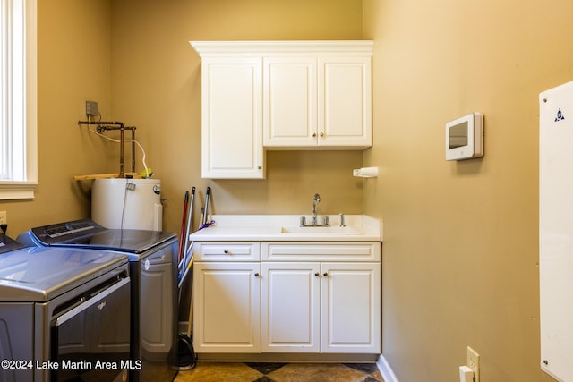
<path id="1" fill-rule="evenodd" d="M 195 261 L 259 261 L 259 242 L 194 242 Z"/>

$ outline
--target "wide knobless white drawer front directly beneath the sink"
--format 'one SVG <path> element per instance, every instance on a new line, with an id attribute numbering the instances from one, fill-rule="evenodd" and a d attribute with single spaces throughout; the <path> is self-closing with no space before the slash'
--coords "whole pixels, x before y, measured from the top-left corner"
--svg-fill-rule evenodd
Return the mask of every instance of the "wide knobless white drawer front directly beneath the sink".
<path id="1" fill-rule="evenodd" d="M 262 242 L 263 261 L 380 261 L 380 242 Z"/>

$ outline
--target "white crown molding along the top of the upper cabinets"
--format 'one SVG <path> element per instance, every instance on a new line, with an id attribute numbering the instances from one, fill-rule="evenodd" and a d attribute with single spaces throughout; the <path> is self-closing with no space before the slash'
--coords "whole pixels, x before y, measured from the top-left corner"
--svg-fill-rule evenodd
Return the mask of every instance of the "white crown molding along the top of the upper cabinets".
<path id="1" fill-rule="evenodd" d="M 201 57 L 220 55 L 278 55 L 312 53 L 313 55 L 370 55 L 372 40 L 323 41 L 189 41 Z"/>

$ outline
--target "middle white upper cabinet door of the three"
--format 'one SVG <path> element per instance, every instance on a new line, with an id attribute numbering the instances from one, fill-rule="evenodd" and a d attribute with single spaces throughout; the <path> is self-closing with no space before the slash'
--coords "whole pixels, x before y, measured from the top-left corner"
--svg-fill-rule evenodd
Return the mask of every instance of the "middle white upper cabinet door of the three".
<path id="1" fill-rule="evenodd" d="M 315 147 L 316 57 L 263 59 L 263 145 Z"/>

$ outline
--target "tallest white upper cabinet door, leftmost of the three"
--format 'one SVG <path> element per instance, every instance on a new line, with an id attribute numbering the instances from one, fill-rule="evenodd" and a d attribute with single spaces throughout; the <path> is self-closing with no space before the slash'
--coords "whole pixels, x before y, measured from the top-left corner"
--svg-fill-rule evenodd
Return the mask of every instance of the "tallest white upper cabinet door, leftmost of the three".
<path id="1" fill-rule="evenodd" d="M 263 178 L 262 60 L 202 60 L 203 178 Z"/>

